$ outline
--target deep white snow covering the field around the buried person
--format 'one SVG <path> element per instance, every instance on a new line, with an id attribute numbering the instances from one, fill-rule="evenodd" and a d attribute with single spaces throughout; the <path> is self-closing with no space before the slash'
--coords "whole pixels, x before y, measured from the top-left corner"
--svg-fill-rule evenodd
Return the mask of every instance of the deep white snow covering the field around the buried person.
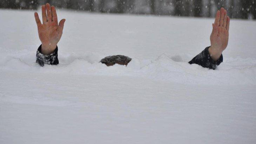
<path id="1" fill-rule="evenodd" d="M 0 143 L 256 143 L 256 21 L 231 20 L 216 70 L 188 64 L 213 19 L 66 18 L 58 66 L 35 63 L 33 11 L 0 10 Z M 133 58 L 107 67 L 109 55 Z"/>

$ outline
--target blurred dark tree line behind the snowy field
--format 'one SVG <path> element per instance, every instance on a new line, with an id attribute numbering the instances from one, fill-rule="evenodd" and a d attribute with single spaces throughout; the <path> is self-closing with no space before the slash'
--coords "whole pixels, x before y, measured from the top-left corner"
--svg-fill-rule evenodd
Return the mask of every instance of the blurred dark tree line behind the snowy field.
<path id="1" fill-rule="evenodd" d="M 256 0 L 0 0 L 0 8 L 37 9 L 46 2 L 77 11 L 198 17 L 224 7 L 231 18 L 256 19 Z"/>

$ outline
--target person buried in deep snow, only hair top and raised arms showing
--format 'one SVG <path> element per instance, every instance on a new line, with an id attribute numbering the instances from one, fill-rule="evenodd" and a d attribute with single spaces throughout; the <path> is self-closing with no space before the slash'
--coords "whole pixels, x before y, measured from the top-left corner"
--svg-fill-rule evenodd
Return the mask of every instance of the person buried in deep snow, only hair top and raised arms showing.
<path id="1" fill-rule="evenodd" d="M 62 19 L 58 23 L 56 9 L 48 3 L 42 5 L 42 22 L 39 19 L 38 13 L 35 12 L 34 16 L 38 27 L 39 39 L 42 42 L 36 51 L 36 63 L 39 63 L 40 66 L 44 66 L 44 64 L 57 65 L 59 64 L 57 44 L 61 39 L 66 20 Z M 224 8 L 218 10 L 215 22 L 212 24 L 211 45 L 206 47 L 188 63 L 215 69 L 223 61 L 222 52 L 228 46 L 229 23 L 230 18 L 227 16 L 227 11 Z M 131 60 L 128 56 L 114 55 L 107 56 L 100 62 L 107 66 L 113 66 L 114 64 L 127 66 Z"/>

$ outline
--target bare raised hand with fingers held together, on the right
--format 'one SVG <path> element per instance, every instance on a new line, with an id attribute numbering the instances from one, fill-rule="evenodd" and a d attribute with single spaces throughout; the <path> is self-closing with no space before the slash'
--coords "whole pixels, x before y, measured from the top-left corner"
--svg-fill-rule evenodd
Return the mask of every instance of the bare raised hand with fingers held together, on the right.
<path id="1" fill-rule="evenodd" d="M 221 10 L 216 13 L 213 31 L 210 36 L 211 47 L 208 49 L 214 61 L 220 59 L 222 52 L 228 46 L 229 23 L 230 18 L 227 16 L 227 11 L 221 8 Z"/>

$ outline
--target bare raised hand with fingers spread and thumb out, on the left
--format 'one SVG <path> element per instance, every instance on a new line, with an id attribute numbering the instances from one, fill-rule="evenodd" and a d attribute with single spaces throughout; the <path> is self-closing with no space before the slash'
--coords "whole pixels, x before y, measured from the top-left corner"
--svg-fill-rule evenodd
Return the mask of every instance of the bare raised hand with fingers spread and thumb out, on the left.
<path id="1" fill-rule="evenodd" d="M 58 42 L 60 41 L 66 20 L 62 19 L 58 25 L 56 9 L 48 3 L 46 5 L 42 5 L 42 20 L 43 24 L 39 19 L 38 13 L 35 12 L 38 35 L 42 42 L 41 53 L 49 55 L 54 52 Z"/>

